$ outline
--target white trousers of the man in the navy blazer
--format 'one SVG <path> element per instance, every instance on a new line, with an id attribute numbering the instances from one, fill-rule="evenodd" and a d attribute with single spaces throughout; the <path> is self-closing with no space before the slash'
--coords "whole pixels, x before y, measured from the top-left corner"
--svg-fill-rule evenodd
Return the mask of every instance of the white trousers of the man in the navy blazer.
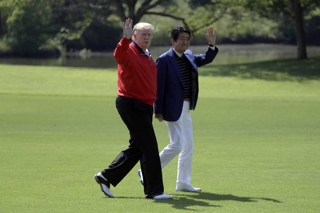
<path id="1" fill-rule="evenodd" d="M 189 108 L 190 102 L 184 101 L 180 118 L 174 122 L 165 121 L 168 126 L 170 144 L 159 154 L 162 168 L 179 154 L 177 186 L 189 185 L 191 180 L 193 139 Z"/>

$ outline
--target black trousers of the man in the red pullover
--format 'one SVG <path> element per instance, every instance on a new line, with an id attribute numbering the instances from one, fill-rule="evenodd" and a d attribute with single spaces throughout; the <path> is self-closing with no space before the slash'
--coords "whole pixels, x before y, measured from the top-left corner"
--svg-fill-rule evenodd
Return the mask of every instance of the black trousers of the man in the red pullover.
<path id="1" fill-rule="evenodd" d="M 158 144 L 152 126 L 153 106 L 118 96 L 116 108 L 130 132 L 130 145 L 101 174 L 116 186 L 140 160 L 144 193 L 164 192 Z"/>

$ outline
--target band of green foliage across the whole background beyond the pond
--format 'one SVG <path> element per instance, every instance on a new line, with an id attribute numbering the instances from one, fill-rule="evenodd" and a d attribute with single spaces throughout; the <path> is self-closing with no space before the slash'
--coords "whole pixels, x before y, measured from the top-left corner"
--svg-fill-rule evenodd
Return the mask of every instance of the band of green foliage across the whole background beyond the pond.
<path id="1" fill-rule="evenodd" d="M 128 1 L 132 2 L 132 1 Z M 128 13 L 128 5 L 124 14 Z M 295 43 L 294 22 L 288 15 L 288 0 L 165 0 L 151 11 L 172 17 L 143 15 L 140 21 L 155 26 L 153 45 L 170 45 L 170 33 L 176 25 L 188 25 L 193 44 L 203 44 L 208 26 L 217 29 L 217 42 Z M 320 44 L 319 1 L 303 0 L 305 32 L 308 44 Z M 143 6 L 136 1 L 134 12 Z M 100 0 L 0 0 L 1 51 L 18 55 L 39 50 L 114 49 L 122 37 L 122 16 L 115 1 Z M 138 15 L 137 17 L 140 17 Z"/>

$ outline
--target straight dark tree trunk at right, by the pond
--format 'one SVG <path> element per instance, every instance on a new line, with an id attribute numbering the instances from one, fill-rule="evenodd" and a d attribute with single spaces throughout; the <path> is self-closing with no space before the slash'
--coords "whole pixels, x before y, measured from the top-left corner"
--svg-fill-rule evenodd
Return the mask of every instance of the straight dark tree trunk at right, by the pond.
<path id="1" fill-rule="evenodd" d="M 307 59 L 306 36 L 303 27 L 303 9 L 300 0 L 290 0 L 293 10 L 293 21 L 297 37 L 298 59 Z"/>

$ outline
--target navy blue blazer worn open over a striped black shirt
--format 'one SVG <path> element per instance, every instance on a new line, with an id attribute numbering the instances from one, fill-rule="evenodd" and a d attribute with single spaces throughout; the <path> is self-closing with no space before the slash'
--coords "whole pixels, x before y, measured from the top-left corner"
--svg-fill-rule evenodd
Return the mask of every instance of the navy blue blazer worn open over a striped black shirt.
<path id="1" fill-rule="evenodd" d="M 192 65 L 191 72 L 191 100 L 190 110 L 195 110 L 198 100 L 199 83 L 197 67 L 209 64 L 218 53 L 218 48 L 208 47 L 205 54 L 195 55 L 189 49 L 184 54 Z M 162 113 L 166 121 L 177 121 L 180 118 L 184 87 L 181 73 L 172 47 L 156 60 L 157 65 L 157 100 L 155 101 L 155 113 Z"/>

